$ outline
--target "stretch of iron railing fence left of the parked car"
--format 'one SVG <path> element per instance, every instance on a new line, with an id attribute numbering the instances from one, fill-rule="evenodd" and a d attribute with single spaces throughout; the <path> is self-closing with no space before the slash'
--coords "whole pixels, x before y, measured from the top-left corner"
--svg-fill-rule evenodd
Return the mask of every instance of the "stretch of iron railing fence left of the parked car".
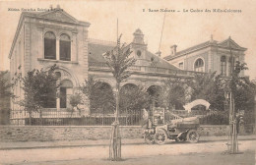
<path id="1" fill-rule="evenodd" d="M 30 114 L 27 111 L 11 111 L 13 125 L 30 125 Z M 80 112 L 42 111 L 32 112 L 33 126 L 111 126 L 113 114 L 92 114 L 83 116 Z M 121 114 L 118 118 L 121 126 L 140 126 L 140 113 Z"/>

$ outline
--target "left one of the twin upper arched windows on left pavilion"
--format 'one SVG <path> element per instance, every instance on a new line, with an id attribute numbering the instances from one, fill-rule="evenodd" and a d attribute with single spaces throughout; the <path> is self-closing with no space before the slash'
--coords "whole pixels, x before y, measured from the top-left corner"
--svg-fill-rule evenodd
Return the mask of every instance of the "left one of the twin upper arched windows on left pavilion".
<path id="1" fill-rule="evenodd" d="M 44 58 L 56 60 L 56 36 L 51 31 L 44 34 Z"/>

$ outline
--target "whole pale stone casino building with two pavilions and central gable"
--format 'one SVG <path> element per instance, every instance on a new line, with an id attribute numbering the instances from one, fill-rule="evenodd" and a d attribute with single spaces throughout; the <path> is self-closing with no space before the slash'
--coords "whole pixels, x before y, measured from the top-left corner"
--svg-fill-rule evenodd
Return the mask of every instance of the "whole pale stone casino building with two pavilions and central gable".
<path id="1" fill-rule="evenodd" d="M 70 117 L 68 98 L 89 76 L 94 76 L 114 92 L 115 83 L 102 54 L 116 43 L 89 38 L 89 32 L 90 23 L 78 21 L 59 7 L 47 12 L 21 14 L 9 54 L 11 79 L 25 76 L 32 69 L 47 70 L 54 64 L 58 66 L 56 74 L 61 82 L 61 97 L 45 107 L 45 112 L 49 113 L 42 114 L 42 117 L 51 118 L 51 112 L 56 112 L 56 118 Z M 129 68 L 133 75 L 121 87 L 140 85 L 152 94 L 160 92 L 161 80 L 169 78 L 189 79 L 196 73 L 210 71 L 228 76 L 229 49 L 232 49 L 235 60 L 240 61 L 243 61 L 246 50 L 230 38 L 220 43 L 211 39 L 180 52 L 176 52 L 174 45 L 171 55 L 163 59 L 148 50 L 141 29 L 136 29 L 133 36 L 129 46 L 133 51 L 131 56 L 137 61 Z M 13 92 L 17 97 L 11 101 L 11 121 L 13 124 L 26 124 L 28 114 L 17 104 L 24 98 L 22 84 L 17 83 Z M 186 102 L 189 101 L 189 97 L 186 98 Z M 72 117 L 91 114 L 87 101 L 81 114 L 73 114 Z"/>

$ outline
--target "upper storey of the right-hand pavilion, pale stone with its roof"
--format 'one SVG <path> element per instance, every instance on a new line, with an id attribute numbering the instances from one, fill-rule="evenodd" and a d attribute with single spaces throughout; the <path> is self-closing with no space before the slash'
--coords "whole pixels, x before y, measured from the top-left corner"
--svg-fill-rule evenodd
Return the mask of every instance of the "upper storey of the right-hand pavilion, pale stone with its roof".
<path id="1" fill-rule="evenodd" d="M 247 49 L 239 46 L 230 37 L 222 42 L 216 40 L 206 41 L 198 45 L 189 47 L 185 50 L 170 54 L 164 57 L 170 64 L 179 67 L 182 66 L 182 70 L 196 71 L 196 61 L 202 59 L 204 62 L 203 72 L 217 72 L 224 77 L 230 76 L 230 57 L 235 61 L 244 63 L 245 51 Z M 224 57 L 222 60 L 222 57 Z M 181 65 L 182 64 L 182 65 Z M 242 71 L 240 76 L 244 76 Z"/>

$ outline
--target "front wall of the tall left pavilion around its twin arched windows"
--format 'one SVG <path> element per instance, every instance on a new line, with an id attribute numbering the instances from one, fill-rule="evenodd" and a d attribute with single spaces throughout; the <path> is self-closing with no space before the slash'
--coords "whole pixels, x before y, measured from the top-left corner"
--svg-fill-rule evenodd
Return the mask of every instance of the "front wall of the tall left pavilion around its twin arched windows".
<path id="1" fill-rule="evenodd" d="M 66 70 L 73 77 L 74 85 L 82 83 L 88 77 L 88 30 L 86 27 L 75 27 L 57 23 L 37 23 L 35 19 L 28 21 L 27 35 L 27 60 L 26 72 L 36 68 L 48 68 L 54 64 Z M 59 37 L 67 33 L 71 37 L 71 61 L 44 59 L 44 33 L 53 31 L 56 35 L 56 47 L 59 45 Z M 58 48 L 56 49 L 58 56 Z M 77 82 L 76 82 L 77 81 Z"/>

